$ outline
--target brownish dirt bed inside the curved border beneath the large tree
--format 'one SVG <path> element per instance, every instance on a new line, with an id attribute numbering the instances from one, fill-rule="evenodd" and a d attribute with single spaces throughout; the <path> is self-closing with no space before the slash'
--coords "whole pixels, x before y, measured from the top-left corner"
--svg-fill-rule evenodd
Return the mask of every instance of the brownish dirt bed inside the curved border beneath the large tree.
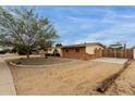
<path id="1" fill-rule="evenodd" d="M 17 65 L 51 65 L 51 64 L 59 64 L 59 63 L 68 63 L 72 60 L 69 59 L 61 59 L 61 58 L 22 58 L 12 60 L 13 63 Z"/>

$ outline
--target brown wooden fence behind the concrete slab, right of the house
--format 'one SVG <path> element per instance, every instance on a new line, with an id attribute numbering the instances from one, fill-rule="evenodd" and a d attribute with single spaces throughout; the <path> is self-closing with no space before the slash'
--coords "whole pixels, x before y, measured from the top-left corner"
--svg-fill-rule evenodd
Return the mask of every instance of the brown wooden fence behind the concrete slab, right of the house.
<path id="1" fill-rule="evenodd" d="M 97 58 L 125 58 L 133 59 L 133 50 L 132 49 L 96 49 L 95 54 Z"/>

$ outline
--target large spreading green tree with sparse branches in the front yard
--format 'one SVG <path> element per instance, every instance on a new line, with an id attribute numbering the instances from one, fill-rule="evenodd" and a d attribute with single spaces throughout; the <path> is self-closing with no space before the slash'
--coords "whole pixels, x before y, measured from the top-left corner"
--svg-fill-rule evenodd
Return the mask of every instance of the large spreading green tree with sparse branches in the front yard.
<path id="1" fill-rule="evenodd" d="M 34 48 L 47 48 L 57 38 L 57 31 L 49 20 L 37 15 L 34 9 L 10 11 L 0 8 L 1 45 L 23 48 L 29 58 Z"/>

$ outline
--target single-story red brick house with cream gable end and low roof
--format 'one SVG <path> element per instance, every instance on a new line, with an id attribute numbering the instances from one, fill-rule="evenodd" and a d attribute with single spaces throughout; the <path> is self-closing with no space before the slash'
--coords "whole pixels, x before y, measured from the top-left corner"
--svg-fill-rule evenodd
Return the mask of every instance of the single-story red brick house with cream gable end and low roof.
<path id="1" fill-rule="evenodd" d="M 97 58 L 95 50 L 103 49 L 105 46 L 99 42 L 89 42 L 81 45 L 63 46 L 62 56 L 71 59 L 89 60 Z"/>

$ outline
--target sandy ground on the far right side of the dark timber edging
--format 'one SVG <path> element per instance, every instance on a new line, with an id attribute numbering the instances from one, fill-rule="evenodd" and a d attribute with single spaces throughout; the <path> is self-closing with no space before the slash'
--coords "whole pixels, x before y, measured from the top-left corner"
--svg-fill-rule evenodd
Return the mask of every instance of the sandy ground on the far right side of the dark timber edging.
<path id="1" fill-rule="evenodd" d="M 105 94 L 134 96 L 135 94 L 135 61 L 122 73 Z"/>

